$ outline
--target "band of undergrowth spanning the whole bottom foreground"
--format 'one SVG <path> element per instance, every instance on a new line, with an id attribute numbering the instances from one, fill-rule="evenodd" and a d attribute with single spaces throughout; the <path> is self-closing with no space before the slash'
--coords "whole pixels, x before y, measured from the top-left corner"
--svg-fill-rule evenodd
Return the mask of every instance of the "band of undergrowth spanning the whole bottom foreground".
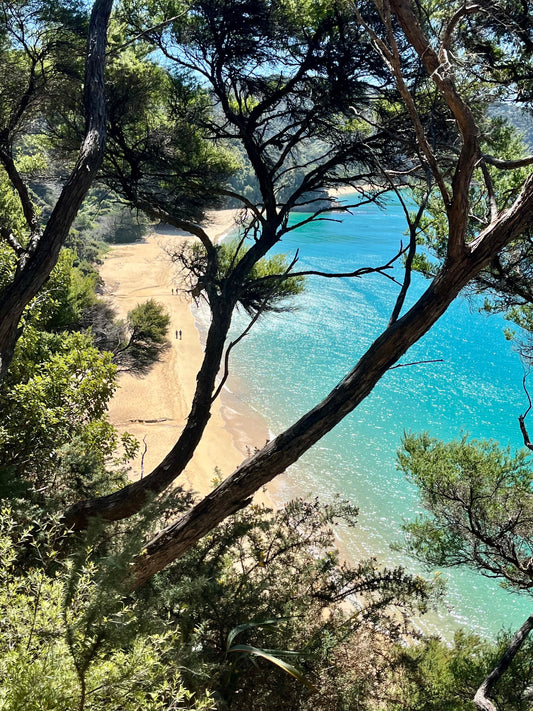
<path id="1" fill-rule="evenodd" d="M 404 616 L 434 591 L 372 559 L 341 562 L 334 527 L 356 517 L 345 502 L 297 500 L 275 514 L 254 505 L 128 594 L 143 538 L 163 511 L 172 517 L 190 503 L 176 491 L 136 521 L 81 535 L 27 503 L 2 510 L 6 709 L 43 700 L 58 711 L 470 708 L 506 640 L 461 633 L 452 648 L 406 645 Z M 528 650 L 500 689 L 503 711 L 527 708 Z"/>

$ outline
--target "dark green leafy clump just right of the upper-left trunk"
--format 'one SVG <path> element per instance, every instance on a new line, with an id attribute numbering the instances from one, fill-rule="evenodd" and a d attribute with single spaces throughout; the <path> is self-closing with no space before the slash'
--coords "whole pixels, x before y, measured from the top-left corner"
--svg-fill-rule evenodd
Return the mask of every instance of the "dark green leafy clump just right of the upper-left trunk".
<path id="1" fill-rule="evenodd" d="M 127 39 L 123 31 L 115 25 L 119 45 Z M 107 83 L 105 184 L 154 219 L 165 213 L 203 219 L 207 207 L 220 204 L 218 191 L 237 167 L 226 147 L 199 130 L 209 120 L 205 90 L 167 71 L 140 46 L 111 51 Z"/>

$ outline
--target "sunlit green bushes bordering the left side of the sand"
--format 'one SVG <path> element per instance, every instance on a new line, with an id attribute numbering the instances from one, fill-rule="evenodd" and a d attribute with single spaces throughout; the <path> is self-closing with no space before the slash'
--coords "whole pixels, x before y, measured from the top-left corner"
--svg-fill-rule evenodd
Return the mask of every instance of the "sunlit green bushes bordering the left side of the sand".
<path id="1" fill-rule="evenodd" d="M 3 478 L 54 505 L 125 483 L 137 444 L 107 419 L 117 369 L 146 373 L 168 343 L 162 306 L 148 301 L 117 320 L 95 294 L 96 272 L 77 263 L 63 250 L 28 306 L 0 395 Z"/>

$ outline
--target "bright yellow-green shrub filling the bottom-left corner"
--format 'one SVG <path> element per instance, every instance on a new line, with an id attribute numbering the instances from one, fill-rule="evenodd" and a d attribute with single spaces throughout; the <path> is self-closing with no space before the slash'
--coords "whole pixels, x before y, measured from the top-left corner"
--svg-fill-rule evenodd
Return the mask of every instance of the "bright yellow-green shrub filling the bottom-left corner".
<path id="1" fill-rule="evenodd" d="M 111 585 L 124 568 L 108 561 L 102 577 L 83 549 L 77 560 L 64 559 L 54 546 L 58 531 L 37 537 L 9 510 L 0 516 L 2 709 L 212 709 L 161 664 L 170 632 L 146 634 L 136 604 L 123 599 L 118 580 Z M 21 575 L 23 549 L 37 562 Z"/>

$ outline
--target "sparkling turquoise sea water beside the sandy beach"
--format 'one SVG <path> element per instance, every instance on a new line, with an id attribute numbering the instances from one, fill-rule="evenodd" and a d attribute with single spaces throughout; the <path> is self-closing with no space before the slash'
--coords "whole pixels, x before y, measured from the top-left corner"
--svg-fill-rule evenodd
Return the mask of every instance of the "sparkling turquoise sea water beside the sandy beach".
<path id="1" fill-rule="evenodd" d="M 367 205 L 341 223 L 297 230 L 284 238 L 280 251 L 298 249 L 301 269 L 351 271 L 388 261 L 405 240 L 404 229 L 394 201 L 386 210 Z M 411 301 L 426 284 L 416 275 Z M 232 369 L 246 384 L 246 399 L 274 434 L 322 399 L 356 363 L 386 325 L 397 290 L 380 275 L 311 277 L 296 311 L 266 317 L 234 350 Z M 292 494 L 328 498 L 338 492 L 359 507 L 355 538 L 343 534 L 354 553 L 416 568 L 389 547 L 401 537 L 402 521 L 420 508 L 415 488 L 395 466 L 405 430 L 429 430 L 443 439 L 468 433 L 521 446 L 517 416 L 527 406 L 523 371 L 503 325 L 501 318 L 480 314 L 458 299 L 403 359 L 443 362 L 390 371 L 355 412 L 291 468 Z M 502 626 L 515 628 L 531 613 L 530 599 L 508 593 L 493 580 L 468 570 L 446 575 L 443 626 L 453 620 L 493 634 Z"/>

